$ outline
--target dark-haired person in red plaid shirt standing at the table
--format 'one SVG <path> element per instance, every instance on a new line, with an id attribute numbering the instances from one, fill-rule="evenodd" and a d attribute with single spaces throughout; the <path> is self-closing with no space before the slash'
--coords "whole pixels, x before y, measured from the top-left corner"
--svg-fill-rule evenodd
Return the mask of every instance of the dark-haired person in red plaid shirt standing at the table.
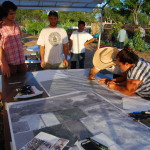
<path id="1" fill-rule="evenodd" d="M 20 27 L 14 21 L 17 6 L 10 1 L 5 1 L 2 7 L 6 11 L 7 16 L 4 18 L 0 29 L 0 61 L 2 73 L 9 77 L 16 72 L 25 72 L 27 68 Z"/>

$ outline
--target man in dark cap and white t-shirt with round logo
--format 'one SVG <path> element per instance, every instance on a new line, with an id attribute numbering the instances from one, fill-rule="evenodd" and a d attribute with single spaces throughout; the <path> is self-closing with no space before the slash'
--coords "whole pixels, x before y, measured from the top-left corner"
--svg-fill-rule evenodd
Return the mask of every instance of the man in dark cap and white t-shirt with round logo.
<path id="1" fill-rule="evenodd" d="M 65 29 L 57 26 L 57 12 L 50 11 L 48 20 L 50 25 L 42 29 L 37 41 L 40 45 L 41 67 L 44 69 L 68 68 L 67 33 Z"/>

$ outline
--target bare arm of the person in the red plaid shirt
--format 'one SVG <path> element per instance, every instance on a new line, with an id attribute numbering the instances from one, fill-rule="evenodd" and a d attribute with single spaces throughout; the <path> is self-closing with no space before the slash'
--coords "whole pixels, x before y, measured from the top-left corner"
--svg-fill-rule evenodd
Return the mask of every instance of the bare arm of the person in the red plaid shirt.
<path id="1" fill-rule="evenodd" d="M 7 77 L 10 77 L 10 68 L 8 66 L 8 63 L 6 61 L 5 58 L 5 53 L 2 49 L 2 47 L 0 46 L 0 60 L 1 60 L 1 71 L 4 75 L 6 75 Z"/>

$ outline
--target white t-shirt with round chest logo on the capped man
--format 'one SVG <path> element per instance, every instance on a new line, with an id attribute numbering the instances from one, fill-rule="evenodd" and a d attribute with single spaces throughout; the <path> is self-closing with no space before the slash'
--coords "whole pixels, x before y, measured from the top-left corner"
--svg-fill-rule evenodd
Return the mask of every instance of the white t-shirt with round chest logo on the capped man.
<path id="1" fill-rule="evenodd" d="M 57 64 L 63 61 L 63 44 L 68 43 L 65 29 L 61 27 L 42 29 L 37 44 L 45 47 L 44 60 L 49 64 Z"/>

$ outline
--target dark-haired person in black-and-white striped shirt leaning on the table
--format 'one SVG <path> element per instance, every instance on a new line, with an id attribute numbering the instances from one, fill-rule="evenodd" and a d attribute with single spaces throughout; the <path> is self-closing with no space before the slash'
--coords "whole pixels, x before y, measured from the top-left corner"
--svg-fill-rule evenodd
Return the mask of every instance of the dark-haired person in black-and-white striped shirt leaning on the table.
<path id="1" fill-rule="evenodd" d="M 120 68 L 125 71 L 123 76 L 100 79 L 99 82 L 125 95 L 136 93 L 141 97 L 150 97 L 150 63 L 141 61 L 130 48 L 124 48 L 116 58 Z"/>

